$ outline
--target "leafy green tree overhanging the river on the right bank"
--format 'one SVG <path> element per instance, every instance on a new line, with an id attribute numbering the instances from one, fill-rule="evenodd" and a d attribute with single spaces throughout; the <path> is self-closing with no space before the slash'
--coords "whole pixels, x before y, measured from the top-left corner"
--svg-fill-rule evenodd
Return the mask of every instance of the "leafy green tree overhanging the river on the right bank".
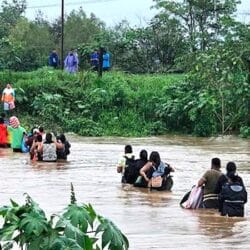
<path id="1" fill-rule="evenodd" d="M 250 29 L 224 21 L 224 40 L 193 54 L 187 79 L 166 89 L 158 115 L 172 129 L 185 126 L 203 136 L 239 131 L 249 135 Z"/>

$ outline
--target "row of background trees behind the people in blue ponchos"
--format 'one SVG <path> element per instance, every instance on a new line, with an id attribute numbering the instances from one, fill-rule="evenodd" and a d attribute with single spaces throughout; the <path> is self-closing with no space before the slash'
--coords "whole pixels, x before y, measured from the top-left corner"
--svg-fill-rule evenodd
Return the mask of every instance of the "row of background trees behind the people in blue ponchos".
<path id="1" fill-rule="evenodd" d="M 112 66 L 130 73 L 183 71 L 182 58 L 205 51 L 223 37 L 223 20 L 232 19 L 237 0 L 155 0 L 159 13 L 145 27 L 121 21 L 106 27 L 83 9 L 65 16 L 65 54 L 77 48 L 81 68 L 87 69 L 94 48 L 111 53 Z M 24 17 L 26 0 L 3 1 L 0 11 L 0 69 L 34 70 L 48 64 L 53 48 L 60 52 L 61 20 L 49 22 L 42 12 L 35 20 Z M 62 58 L 64 59 L 64 58 Z"/>

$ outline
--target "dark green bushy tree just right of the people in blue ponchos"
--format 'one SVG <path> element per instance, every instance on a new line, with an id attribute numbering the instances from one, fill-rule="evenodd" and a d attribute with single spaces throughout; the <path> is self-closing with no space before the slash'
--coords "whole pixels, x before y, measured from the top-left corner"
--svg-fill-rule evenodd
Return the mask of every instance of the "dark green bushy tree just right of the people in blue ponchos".
<path id="1" fill-rule="evenodd" d="M 157 16 L 149 26 L 141 28 L 131 27 L 124 20 L 79 47 L 87 58 L 100 46 L 111 53 L 115 69 L 133 73 L 166 72 L 185 50 L 185 39 L 178 22 Z"/>

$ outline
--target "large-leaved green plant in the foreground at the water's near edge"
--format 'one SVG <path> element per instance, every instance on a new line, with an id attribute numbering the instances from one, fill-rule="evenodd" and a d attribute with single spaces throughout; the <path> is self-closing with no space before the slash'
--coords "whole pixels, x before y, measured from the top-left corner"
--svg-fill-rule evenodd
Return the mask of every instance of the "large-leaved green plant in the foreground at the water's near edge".
<path id="1" fill-rule="evenodd" d="M 27 250 L 128 249 L 128 239 L 112 221 L 98 215 L 90 204 L 77 205 L 72 196 L 64 213 L 49 219 L 28 195 L 24 205 L 11 200 L 10 206 L 1 207 L 3 249 L 12 249 L 14 243 Z"/>

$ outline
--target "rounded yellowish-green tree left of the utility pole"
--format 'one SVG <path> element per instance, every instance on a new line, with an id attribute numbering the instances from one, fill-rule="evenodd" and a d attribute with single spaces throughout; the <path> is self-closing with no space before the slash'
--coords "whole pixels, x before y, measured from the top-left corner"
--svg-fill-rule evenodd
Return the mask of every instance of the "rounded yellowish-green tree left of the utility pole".
<path id="1" fill-rule="evenodd" d="M 11 62 L 5 68 L 19 71 L 46 65 L 49 51 L 54 46 L 48 24 L 30 22 L 26 18 L 20 18 L 9 31 L 8 42 L 9 47 L 1 52 L 5 53 L 4 61 Z"/>

